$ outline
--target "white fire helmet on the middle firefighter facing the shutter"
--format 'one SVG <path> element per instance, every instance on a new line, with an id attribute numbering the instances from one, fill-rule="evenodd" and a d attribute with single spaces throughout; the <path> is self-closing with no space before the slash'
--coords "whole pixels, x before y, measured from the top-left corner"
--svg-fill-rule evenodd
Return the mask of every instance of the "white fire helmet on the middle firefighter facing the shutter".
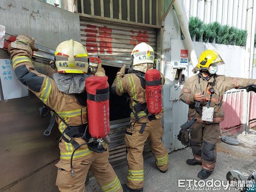
<path id="1" fill-rule="evenodd" d="M 137 44 L 131 52 L 133 59 L 133 69 L 145 73 L 148 69 L 153 68 L 154 49 L 146 44 Z"/>

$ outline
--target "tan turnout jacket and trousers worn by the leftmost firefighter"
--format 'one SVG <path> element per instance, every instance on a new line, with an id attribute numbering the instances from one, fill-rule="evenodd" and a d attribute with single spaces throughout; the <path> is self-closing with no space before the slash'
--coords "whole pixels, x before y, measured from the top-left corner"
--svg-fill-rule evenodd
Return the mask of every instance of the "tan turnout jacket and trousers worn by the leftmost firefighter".
<path id="1" fill-rule="evenodd" d="M 45 105 L 58 113 L 68 125 L 82 125 L 82 119 L 86 123 L 86 110 L 81 110 L 86 106 L 81 105 L 74 94 L 66 94 L 59 91 L 53 79 L 38 73 L 32 65 L 31 51 L 17 49 L 12 47 L 11 44 L 8 50 L 15 74 L 22 84 L 41 99 Z M 96 76 L 105 76 L 105 73 L 98 71 Z M 63 133 L 67 126 L 59 118 L 56 118 L 56 121 L 58 122 L 59 131 Z M 73 139 L 79 144 L 85 143 L 81 137 Z M 89 168 L 96 177 L 102 191 L 122 191 L 121 183 L 108 162 L 108 151 L 100 154 L 89 150 L 87 145 L 81 146 L 73 156 L 73 169 L 76 175 L 71 177 L 70 158 L 74 148 L 71 143 L 67 143 L 63 139 L 59 143 L 59 148 L 60 161 L 56 164 L 58 167 L 56 185 L 61 192 L 69 192 L 71 190 L 84 192 L 84 182 Z M 105 148 L 107 148 L 106 144 Z"/>

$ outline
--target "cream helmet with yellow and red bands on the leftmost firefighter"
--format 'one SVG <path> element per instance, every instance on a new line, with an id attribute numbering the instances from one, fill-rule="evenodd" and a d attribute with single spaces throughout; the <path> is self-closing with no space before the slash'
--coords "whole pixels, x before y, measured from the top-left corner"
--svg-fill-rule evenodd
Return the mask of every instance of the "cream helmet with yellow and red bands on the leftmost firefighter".
<path id="1" fill-rule="evenodd" d="M 89 64 L 85 47 L 70 39 L 58 45 L 55 52 L 55 65 L 59 73 L 87 73 Z"/>

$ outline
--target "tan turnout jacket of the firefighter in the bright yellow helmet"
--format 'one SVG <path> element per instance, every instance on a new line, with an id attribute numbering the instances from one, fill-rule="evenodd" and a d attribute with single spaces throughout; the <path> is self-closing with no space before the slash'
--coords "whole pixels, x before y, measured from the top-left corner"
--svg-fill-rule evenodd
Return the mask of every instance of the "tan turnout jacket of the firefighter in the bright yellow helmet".
<path id="1" fill-rule="evenodd" d="M 254 79 L 243 79 L 243 78 L 233 78 L 226 77 L 222 75 L 211 76 L 208 81 L 201 78 L 201 75 L 195 75 L 187 79 L 180 93 L 180 99 L 189 105 L 189 120 L 195 117 L 198 119 L 196 123 L 210 123 L 201 120 L 201 115 L 195 112 L 195 93 L 201 93 L 204 95 L 204 101 L 201 103 L 202 106 L 208 105 L 208 100 L 210 100 L 210 106 L 214 108 L 213 121 L 212 123 L 219 123 L 224 120 L 224 112 L 222 110 L 222 99 L 223 95 L 227 90 L 230 89 L 243 89 L 247 85 L 254 84 L 256 81 Z M 214 89 L 214 94 L 212 96 L 207 91 L 207 88 L 212 87 Z"/>

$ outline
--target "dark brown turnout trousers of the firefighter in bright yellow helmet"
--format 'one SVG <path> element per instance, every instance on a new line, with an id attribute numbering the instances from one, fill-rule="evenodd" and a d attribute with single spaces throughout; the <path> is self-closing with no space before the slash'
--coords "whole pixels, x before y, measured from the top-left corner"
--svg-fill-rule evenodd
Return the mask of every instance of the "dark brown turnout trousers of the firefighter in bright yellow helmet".
<path id="1" fill-rule="evenodd" d="M 202 168 L 213 171 L 216 164 L 216 143 L 220 134 L 219 123 L 194 123 L 190 132 L 193 156 L 202 162 Z"/>

